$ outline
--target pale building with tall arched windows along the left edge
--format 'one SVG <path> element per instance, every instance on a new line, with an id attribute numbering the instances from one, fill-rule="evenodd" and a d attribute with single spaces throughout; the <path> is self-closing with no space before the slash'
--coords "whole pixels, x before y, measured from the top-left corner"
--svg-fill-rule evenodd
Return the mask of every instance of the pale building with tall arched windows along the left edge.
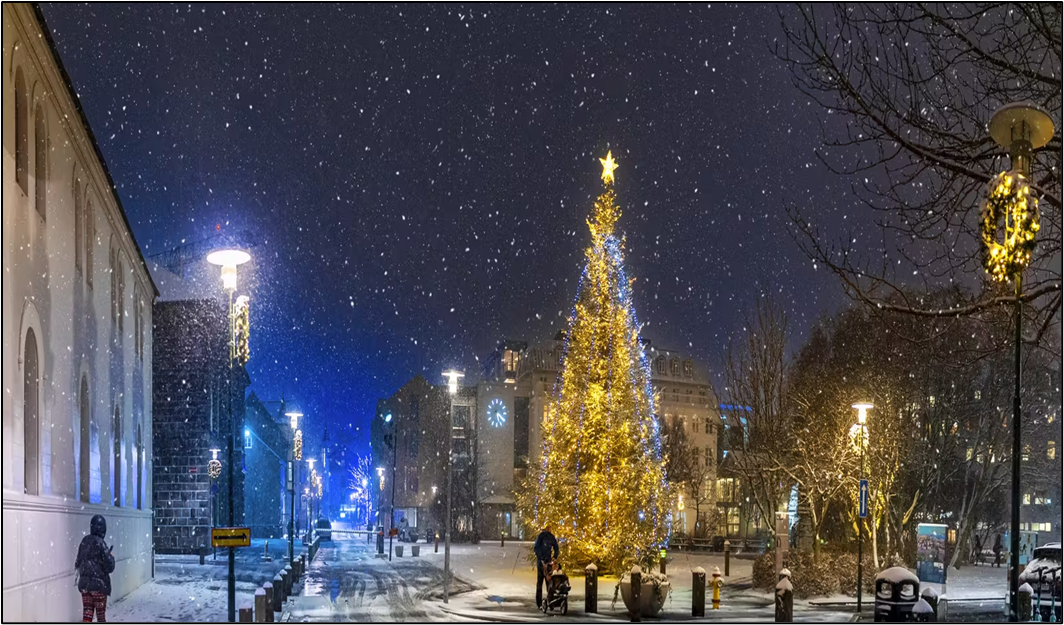
<path id="1" fill-rule="evenodd" d="M 112 601 L 151 574 L 157 292 L 39 11 L 2 11 L 3 620 L 78 621 L 94 514 Z"/>

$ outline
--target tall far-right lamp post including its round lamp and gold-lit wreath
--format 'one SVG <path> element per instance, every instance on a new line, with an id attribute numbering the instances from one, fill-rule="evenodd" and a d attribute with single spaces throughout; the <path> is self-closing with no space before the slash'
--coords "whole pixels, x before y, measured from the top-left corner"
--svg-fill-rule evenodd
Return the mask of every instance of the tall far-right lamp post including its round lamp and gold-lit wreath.
<path id="1" fill-rule="evenodd" d="M 1049 143 L 1053 122 L 1030 102 L 998 109 L 991 118 L 990 135 L 1009 150 L 1012 168 L 991 180 L 983 203 L 981 239 L 983 266 L 1000 282 L 1016 283 L 1015 389 L 1012 398 L 1012 523 L 1009 545 L 1009 616 L 1019 619 L 1019 473 L 1020 473 L 1020 349 L 1024 334 L 1024 269 L 1031 262 L 1038 233 L 1038 200 L 1028 179 L 1035 149 Z"/>

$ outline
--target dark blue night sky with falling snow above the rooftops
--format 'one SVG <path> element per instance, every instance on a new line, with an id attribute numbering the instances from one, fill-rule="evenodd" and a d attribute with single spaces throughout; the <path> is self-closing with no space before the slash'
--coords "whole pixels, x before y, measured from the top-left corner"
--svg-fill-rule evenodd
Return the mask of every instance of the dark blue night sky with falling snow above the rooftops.
<path id="1" fill-rule="evenodd" d="M 658 346 L 716 372 L 763 292 L 799 333 L 844 301 L 788 234 L 788 202 L 862 227 L 775 7 L 43 11 L 145 256 L 256 237 L 253 389 L 312 428 L 564 327 L 608 149 Z"/>

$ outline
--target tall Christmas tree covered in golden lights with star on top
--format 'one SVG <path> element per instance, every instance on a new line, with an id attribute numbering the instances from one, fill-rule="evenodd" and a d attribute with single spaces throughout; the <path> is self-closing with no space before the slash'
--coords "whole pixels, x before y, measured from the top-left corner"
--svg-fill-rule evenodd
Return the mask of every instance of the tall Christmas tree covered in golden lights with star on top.
<path id="1" fill-rule="evenodd" d="M 614 233 L 617 164 L 612 153 L 600 161 L 605 191 L 587 220 L 592 244 L 544 417 L 543 465 L 522 507 L 537 528 L 550 525 L 567 565 L 619 573 L 650 564 L 667 543 L 670 506 L 633 280 Z"/>

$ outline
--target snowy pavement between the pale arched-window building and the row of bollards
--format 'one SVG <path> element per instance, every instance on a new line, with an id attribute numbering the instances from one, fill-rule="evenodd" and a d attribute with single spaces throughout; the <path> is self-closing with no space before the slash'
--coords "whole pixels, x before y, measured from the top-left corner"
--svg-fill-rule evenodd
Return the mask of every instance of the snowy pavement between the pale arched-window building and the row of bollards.
<path id="1" fill-rule="evenodd" d="M 262 540 L 237 550 L 236 607 L 250 606 L 254 592 L 266 581 L 272 581 L 287 563 L 288 543 L 269 541 L 272 561 L 262 559 Z M 296 554 L 302 543 L 296 541 Z M 218 557 L 207 556 L 203 564 L 199 556 L 155 556 L 155 578 L 121 599 L 107 606 L 107 620 L 118 623 L 157 622 L 225 622 L 229 560 L 225 549 Z"/>

